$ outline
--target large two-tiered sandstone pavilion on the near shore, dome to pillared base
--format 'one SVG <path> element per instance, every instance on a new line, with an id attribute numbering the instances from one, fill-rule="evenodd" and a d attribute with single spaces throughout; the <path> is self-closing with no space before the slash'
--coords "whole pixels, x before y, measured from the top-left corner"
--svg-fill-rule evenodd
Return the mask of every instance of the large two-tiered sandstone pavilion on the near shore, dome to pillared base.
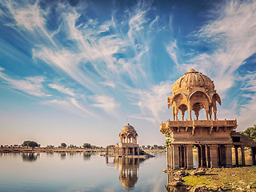
<path id="1" fill-rule="evenodd" d="M 230 133 L 236 129 L 237 120 L 218 120 L 216 104 L 218 102 L 221 105 L 221 98 L 210 78 L 193 69 L 189 70 L 174 82 L 173 92 L 167 102 L 168 108 L 172 106 L 173 121 L 168 119 L 162 123 L 160 131 L 166 136 L 168 144 L 169 168 L 193 169 L 194 146 L 198 151 L 198 166 L 232 166 L 233 143 Z M 199 120 L 202 109 L 205 111 L 205 120 Z M 189 119 L 185 120 L 186 111 Z"/>

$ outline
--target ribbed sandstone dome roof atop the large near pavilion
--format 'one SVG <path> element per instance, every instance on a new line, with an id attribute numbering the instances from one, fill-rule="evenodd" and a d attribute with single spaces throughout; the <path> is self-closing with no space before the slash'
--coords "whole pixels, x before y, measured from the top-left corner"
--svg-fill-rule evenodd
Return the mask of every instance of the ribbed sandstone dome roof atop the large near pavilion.
<path id="1" fill-rule="evenodd" d="M 214 91 L 214 82 L 206 75 L 190 69 L 181 78 L 174 82 L 173 92 L 177 90 L 186 90 L 191 87 L 203 87 L 207 92 Z"/>

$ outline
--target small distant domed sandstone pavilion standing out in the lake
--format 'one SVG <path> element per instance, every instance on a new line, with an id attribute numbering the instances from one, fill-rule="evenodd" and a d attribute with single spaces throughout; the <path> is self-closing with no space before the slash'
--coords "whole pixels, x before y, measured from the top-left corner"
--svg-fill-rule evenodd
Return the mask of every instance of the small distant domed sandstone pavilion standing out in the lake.
<path id="1" fill-rule="evenodd" d="M 137 144 L 138 134 L 133 126 L 128 123 L 126 126 L 122 127 L 119 138 L 119 143 L 113 146 L 106 146 L 106 155 L 109 154 L 110 148 L 114 150 L 114 155 L 117 156 L 140 154 L 139 146 Z"/>

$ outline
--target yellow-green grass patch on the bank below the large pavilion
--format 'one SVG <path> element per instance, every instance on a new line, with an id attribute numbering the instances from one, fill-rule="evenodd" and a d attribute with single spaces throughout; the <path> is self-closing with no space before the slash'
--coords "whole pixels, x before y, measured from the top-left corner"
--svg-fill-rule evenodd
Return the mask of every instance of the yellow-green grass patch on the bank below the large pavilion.
<path id="1" fill-rule="evenodd" d="M 190 173 L 191 170 L 187 172 Z M 214 168 L 206 170 L 206 175 L 190 175 L 182 179 L 185 185 L 206 186 L 210 190 L 221 187 L 226 191 L 256 191 L 256 166 Z"/>

